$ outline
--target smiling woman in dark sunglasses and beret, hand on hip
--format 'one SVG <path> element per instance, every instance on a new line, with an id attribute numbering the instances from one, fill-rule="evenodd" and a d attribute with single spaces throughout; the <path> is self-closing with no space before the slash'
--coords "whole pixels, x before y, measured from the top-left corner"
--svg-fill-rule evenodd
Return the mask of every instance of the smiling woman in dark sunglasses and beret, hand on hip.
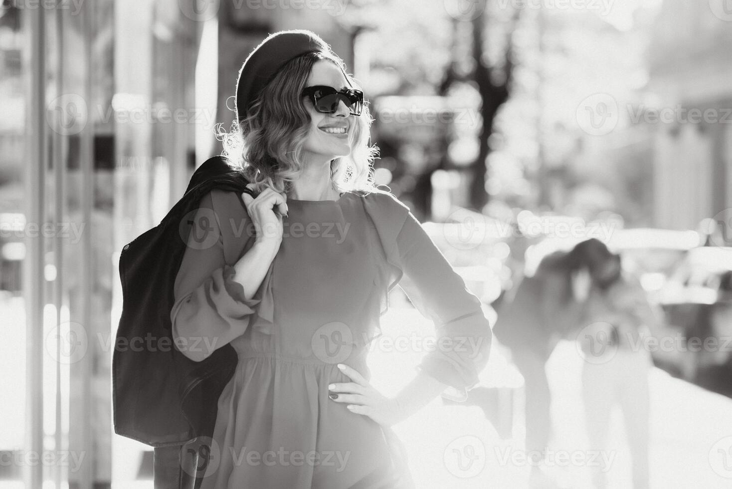
<path id="1" fill-rule="evenodd" d="M 319 37 L 267 37 L 244 61 L 236 110 L 226 155 L 256 196 L 202 199 L 171 310 L 174 337 L 203 346 L 181 349 L 190 359 L 226 343 L 239 356 L 201 487 L 407 487 L 389 427 L 477 384 L 491 337 L 480 301 L 373 187 L 362 93 Z M 370 386 L 366 353 L 403 274 L 455 347 L 426 354 L 389 398 Z"/>

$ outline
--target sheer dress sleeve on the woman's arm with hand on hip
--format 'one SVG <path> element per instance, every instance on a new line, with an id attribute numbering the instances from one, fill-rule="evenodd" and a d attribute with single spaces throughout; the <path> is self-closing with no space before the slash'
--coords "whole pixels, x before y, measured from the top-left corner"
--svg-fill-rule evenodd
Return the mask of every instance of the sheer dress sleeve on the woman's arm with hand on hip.
<path id="1" fill-rule="evenodd" d="M 397 235 L 400 265 L 407 281 L 400 287 L 436 326 L 434 348 L 418 369 L 449 385 L 443 397 L 463 401 L 488 363 L 493 333 L 477 296 L 452 269 L 422 225 L 408 212 Z"/>

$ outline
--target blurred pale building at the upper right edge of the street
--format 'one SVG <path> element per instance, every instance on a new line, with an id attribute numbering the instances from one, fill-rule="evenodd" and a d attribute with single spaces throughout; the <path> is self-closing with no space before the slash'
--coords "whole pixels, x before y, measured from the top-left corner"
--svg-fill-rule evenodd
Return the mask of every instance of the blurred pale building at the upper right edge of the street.
<path id="1" fill-rule="evenodd" d="M 731 206 L 732 12 L 723 4 L 665 0 L 654 25 L 650 108 L 668 117 L 654 135 L 661 228 L 697 228 Z"/>

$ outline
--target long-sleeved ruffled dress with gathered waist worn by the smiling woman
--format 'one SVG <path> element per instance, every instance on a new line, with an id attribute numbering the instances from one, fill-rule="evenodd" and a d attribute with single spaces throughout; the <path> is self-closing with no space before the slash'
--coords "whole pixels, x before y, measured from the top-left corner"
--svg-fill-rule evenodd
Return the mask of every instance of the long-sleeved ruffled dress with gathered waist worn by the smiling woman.
<path id="1" fill-rule="evenodd" d="M 214 190 L 193 216 L 173 336 L 191 339 L 180 349 L 197 361 L 226 343 L 239 354 L 218 401 L 201 488 L 409 487 L 392 430 L 329 399 L 328 385 L 351 381 L 337 363 L 369 378 L 367 347 L 404 274 L 438 337 L 471 338 L 426 354 L 419 366 L 450 386 L 444 396 L 464 400 L 490 347 L 479 299 L 390 193 L 288 199 L 288 207 L 280 249 L 251 299 L 233 280 L 233 265 L 254 242 L 239 196 Z"/>

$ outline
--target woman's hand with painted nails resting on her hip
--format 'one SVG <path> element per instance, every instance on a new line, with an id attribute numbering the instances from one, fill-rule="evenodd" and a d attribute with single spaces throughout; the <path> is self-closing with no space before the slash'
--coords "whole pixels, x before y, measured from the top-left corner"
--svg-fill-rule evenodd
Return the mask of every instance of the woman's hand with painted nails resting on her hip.
<path id="1" fill-rule="evenodd" d="M 350 411 L 370 417 L 384 426 L 395 425 L 409 417 L 411 413 L 406 406 L 378 392 L 356 370 L 343 364 L 338 364 L 338 367 L 353 382 L 335 382 L 329 385 L 329 397 L 336 403 L 346 403 Z"/>

